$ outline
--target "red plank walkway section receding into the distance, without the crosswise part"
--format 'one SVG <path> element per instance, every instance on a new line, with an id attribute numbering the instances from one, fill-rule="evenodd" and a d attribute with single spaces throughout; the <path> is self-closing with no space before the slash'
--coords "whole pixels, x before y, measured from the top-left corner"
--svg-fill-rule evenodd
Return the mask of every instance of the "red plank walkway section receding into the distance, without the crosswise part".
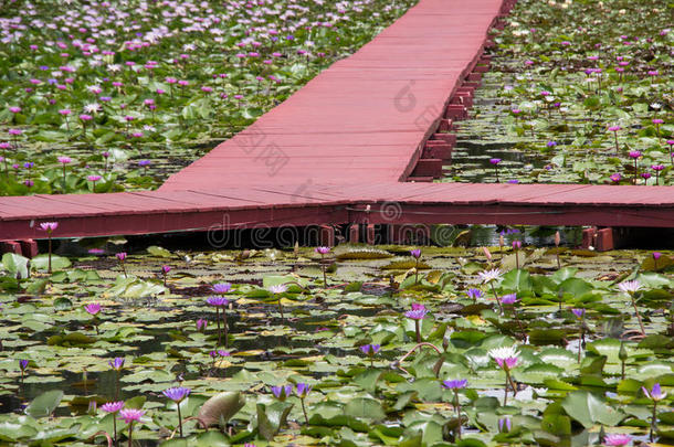
<path id="1" fill-rule="evenodd" d="M 396 182 L 482 54 L 503 0 L 421 0 L 161 190 Z"/>

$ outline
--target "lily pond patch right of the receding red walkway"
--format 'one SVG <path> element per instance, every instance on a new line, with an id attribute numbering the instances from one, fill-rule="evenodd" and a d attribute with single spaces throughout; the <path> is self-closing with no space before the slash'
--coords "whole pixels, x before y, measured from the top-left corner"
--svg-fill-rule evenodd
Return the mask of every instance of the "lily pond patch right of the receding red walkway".
<path id="1" fill-rule="evenodd" d="M 673 184 L 674 6 L 518 1 L 444 181 Z"/>

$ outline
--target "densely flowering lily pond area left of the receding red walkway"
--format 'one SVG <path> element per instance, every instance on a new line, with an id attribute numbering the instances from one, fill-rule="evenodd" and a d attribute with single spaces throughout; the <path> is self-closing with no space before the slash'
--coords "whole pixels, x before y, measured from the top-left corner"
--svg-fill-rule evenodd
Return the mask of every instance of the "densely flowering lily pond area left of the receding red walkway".
<path id="1" fill-rule="evenodd" d="M 414 0 L 0 4 L 0 195 L 154 189 Z"/>

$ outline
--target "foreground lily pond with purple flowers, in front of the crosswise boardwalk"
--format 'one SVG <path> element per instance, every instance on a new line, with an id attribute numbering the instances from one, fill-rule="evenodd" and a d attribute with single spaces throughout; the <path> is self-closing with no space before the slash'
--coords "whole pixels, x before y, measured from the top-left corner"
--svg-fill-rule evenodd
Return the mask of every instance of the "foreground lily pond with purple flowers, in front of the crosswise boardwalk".
<path id="1" fill-rule="evenodd" d="M 6 254 L 0 439 L 671 445 L 674 253 L 506 238 Z"/>

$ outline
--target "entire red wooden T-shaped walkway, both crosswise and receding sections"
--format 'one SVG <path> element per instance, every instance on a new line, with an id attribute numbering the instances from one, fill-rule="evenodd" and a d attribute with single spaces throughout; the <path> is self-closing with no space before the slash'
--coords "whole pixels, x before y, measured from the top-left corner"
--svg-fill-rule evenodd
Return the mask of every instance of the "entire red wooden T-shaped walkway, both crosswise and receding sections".
<path id="1" fill-rule="evenodd" d="M 0 241 L 213 227 L 497 223 L 674 227 L 671 187 L 403 183 L 508 0 L 421 0 L 158 191 L 0 198 Z"/>

